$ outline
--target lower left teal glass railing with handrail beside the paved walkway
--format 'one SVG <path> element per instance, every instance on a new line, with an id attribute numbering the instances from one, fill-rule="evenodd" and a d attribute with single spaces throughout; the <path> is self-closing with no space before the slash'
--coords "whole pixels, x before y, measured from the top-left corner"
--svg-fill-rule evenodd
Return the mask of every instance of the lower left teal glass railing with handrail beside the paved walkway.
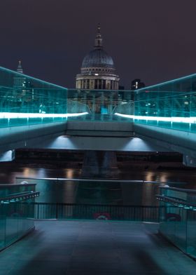
<path id="1" fill-rule="evenodd" d="M 0 250 L 34 229 L 32 202 L 39 194 L 35 186 L 0 185 Z"/>

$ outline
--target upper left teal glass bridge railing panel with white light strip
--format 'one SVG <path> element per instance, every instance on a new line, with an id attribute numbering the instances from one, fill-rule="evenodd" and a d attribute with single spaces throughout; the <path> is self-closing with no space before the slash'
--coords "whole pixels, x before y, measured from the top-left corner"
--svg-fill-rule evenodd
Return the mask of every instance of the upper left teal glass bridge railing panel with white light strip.
<path id="1" fill-rule="evenodd" d="M 66 88 L 0 67 L 0 127 L 66 120 Z"/>

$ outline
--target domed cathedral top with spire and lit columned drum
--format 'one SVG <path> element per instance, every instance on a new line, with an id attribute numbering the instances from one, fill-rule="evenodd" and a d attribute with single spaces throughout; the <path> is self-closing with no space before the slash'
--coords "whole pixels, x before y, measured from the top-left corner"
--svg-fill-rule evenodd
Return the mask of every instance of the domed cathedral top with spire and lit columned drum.
<path id="1" fill-rule="evenodd" d="M 100 25 L 90 51 L 82 62 L 81 72 L 76 76 L 77 89 L 118 90 L 119 76 L 116 74 L 113 59 L 104 51 Z"/>

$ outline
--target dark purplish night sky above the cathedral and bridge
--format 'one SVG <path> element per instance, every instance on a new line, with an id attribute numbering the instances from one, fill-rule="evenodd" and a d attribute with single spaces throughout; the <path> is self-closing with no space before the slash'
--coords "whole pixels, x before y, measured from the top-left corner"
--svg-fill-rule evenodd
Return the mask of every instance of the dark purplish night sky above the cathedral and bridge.
<path id="1" fill-rule="evenodd" d="M 100 22 L 120 85 L 196 73 L 195 0 L 1 0 L 0 65 L 75 87 Z"/>

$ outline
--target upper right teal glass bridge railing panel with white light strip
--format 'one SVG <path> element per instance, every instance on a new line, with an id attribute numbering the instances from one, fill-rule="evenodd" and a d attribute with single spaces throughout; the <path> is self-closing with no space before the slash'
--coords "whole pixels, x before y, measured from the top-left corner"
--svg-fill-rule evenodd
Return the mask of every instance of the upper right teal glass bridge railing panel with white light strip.
<path id="1" fill-rule="evenodd" d="M 134 91 L 134 123 L 196 132 L 196 74 Z M 123 110 L 122 110 L 123 111 Z"/>

